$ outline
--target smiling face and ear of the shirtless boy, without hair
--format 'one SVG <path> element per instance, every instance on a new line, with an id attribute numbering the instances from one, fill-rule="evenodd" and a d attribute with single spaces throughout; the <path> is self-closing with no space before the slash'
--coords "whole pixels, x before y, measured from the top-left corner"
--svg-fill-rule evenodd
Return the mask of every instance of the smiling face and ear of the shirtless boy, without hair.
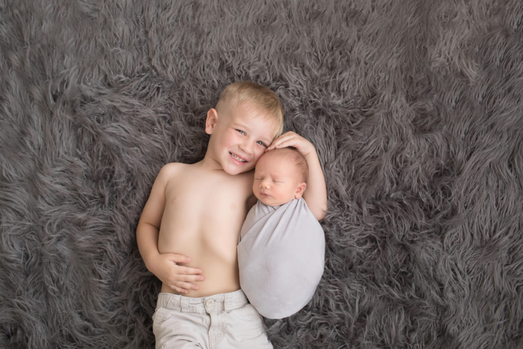
<path id="1" fill-rule="evenodd" d="M 276 137 L 276 119 L 251 103 L 225 104 L 207 114 L 208 154 L 231 175 L 250 171 Z"/>

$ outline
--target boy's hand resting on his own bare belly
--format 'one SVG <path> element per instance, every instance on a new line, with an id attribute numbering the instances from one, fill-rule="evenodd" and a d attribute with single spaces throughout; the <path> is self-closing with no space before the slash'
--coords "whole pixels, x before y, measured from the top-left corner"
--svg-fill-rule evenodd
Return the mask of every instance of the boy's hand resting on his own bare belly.
<path id="1" fill-rule="evenodd" d="M 159 253 L 151 261 L 150 271 L 163 283 L 176 292 L 186 294 L 189 289 L 197 290 L 200 287 L 192 282 L 202 281 L 201 269 L 178 265 L 187 263 L 186 257 L 177 253 Z"/>

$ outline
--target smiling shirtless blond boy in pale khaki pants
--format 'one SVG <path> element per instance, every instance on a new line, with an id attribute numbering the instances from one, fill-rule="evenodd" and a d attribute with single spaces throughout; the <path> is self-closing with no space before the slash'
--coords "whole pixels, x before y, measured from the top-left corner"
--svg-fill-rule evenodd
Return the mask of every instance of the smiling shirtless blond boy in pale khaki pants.
<path id="1" fill-rule="evenodd" d="M 153 317 L 156 347 L 271 347 L 240 289 L 236 245 L 253 204 L 251 170 L 259 157 L 277 144 L 310 150 L 298 135 L 273 142 L 282 126 L 274 93 L 254 83 L 232 84 L 207 113 L 203 160 L 170 163 L 158 174 L 137 227 L 145 265 L 163 282 Z M 323 179 L 319 161 L 313 166 Z M 182 251 L 191 258 L 175 253 Z"/>

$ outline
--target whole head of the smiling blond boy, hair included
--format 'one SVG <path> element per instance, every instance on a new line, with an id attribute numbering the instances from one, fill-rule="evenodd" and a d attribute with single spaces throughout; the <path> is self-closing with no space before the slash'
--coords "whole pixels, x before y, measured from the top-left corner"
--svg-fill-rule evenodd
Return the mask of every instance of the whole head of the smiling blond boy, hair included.
<path id="1" fill-rule="evenodd" d="M 283 109 L 274 92 L 252 82 L 231 84 L 207 112 L 206 157 L 228 174 L 252 170 L 282 129 Z"/>

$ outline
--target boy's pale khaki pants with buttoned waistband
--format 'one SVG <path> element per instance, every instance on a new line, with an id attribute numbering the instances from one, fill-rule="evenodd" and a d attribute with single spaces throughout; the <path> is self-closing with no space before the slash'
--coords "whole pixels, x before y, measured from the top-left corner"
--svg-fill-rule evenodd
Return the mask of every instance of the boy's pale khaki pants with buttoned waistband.
<path id="1" fill-rule="evenodd" d="M 242 290 L 192 298 L 158 295 L 156 348 L 272 348 L 260 314 Z"/>

